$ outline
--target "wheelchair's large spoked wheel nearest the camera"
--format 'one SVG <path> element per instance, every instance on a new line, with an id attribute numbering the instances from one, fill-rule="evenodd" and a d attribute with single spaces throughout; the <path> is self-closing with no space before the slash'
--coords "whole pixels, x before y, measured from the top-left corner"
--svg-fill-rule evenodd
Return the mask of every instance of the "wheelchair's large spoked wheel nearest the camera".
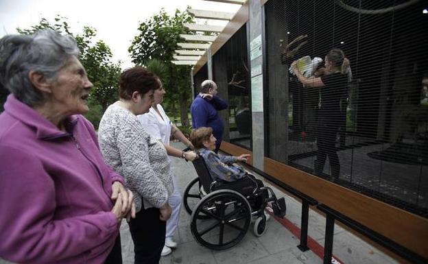
<path id="1" fill-rule="evenodd" d="M 190 229 L 201 245 L 224 250 L 243 239 L 250 223 L 251 208 L 246 198 L 236 191 L 223 189 L 209 193 L 198 202 Z"/>

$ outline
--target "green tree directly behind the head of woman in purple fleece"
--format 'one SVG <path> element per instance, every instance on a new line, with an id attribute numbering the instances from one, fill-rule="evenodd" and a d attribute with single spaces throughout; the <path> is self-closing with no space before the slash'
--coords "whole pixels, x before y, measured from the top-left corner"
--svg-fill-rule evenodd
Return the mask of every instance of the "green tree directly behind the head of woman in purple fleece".
<path id="1" fill-rule="evenodd" d="M 120 62 L 112 62 L 112 52 L 104 41 L 95 42 L 93 40 L 97 35 L 96 29 L 84 26 L 81 34 L 73 35 L 67 19 L 62 16 L 56 16 L 54 23 L 43 18 L 38 25 L 33 25 L 29 29 L 18 28 L 17 31 L 21 34 L 33 34 L 40 29 L 53 29 L 75 38 L 80 49 L 80 62 L 94 85 L 90 93 L 89 112 L 86 117 L 97 128 L 104 110 L 117 100 L 117 87 L 121 72 Z"/>

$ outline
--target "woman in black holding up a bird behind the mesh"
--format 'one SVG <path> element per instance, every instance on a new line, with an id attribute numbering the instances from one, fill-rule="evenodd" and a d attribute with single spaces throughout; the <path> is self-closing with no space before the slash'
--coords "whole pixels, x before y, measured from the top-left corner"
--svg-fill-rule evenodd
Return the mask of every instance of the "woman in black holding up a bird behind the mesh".
<path id="1" fill-rule="evenodd" d="M 321 176 L 326 156 L 329 156 L 331 180 L 335 180 L 340 175 L 340 162 L 335 142 L 337 130 L 342 120 L 340 115 L 341 99 L 346 95 L 348 87 L 349 60 L 345 58 L 341 49 L 331 49 L 325 56 L 324 64 L 325 67 L 316 73 L 316 76 L 320 75 L 320 77 L 305 77 L 298 69 L 296 61 L 292 63 L 292 69 L 304 86 L 320 88 L 318 152 L 313 171 L 317 176 Z"/>

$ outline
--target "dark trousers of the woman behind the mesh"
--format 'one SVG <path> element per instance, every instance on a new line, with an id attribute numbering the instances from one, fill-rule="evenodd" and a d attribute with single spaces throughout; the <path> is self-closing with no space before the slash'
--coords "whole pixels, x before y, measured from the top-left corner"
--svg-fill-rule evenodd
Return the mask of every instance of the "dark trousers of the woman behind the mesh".
<path id="1" fill-rule="evenodd" d="M 329 123 L 320 123 L 318 125 L 318 137 L 317 137 L 317 159 L 314 165 L 315 175 L 320 176 L 324 169 L 326 157 L 329 156 L 331 176 L 334 178 L 339 177 L 340 174 L 340 162 L 339 156 L 336 152 L 336 134 L 337 127 Z"/>

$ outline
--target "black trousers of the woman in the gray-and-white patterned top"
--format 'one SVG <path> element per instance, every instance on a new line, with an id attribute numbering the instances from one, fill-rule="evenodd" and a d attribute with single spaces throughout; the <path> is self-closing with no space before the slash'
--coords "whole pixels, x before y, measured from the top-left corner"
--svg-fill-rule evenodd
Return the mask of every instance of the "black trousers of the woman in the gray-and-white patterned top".
<path id="1" fill-rule="evenodd" d="M 165 244 L 166 222 L 158 208 L 141 209 L 129 226 L 134 241 L 135 264 L 158 264 Z"/>

